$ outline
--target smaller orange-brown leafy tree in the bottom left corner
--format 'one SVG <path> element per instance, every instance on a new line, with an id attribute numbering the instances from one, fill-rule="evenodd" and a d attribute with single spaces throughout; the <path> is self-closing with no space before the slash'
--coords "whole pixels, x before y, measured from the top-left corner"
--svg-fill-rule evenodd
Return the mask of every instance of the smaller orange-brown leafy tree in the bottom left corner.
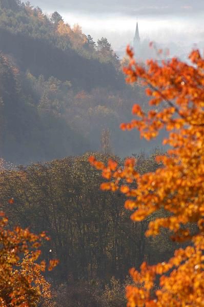
<path id="1" fill-rule="evenodd" d="M 9 204 L 14 200 L 11 198 Z M 8 229 L 8 218 L 0 217 L 0 306 L 37 306 L 40 299 L 51 299 L 50 284 L 43 272 L 46 262 L 39 261 L 40 243 L 49 238 L 35 235 L 29 229 Z M 57 264 L 50 260 L 48 270 Z"/>

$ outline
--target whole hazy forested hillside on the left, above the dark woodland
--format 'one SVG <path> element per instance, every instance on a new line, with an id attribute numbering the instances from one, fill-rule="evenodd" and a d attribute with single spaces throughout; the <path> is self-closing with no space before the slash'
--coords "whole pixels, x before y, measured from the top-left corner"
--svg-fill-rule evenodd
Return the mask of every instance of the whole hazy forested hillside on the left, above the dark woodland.
<path id="1" fill-rule="evenodd" d="M 106 38 L 95 43 L 57 12 L 47 16 L 29 3 L 1 0 L 0 42 L 6 160 L 24 164 L 97 151 L 105 127 L 115 153 L 139 150 L 138 135 L 124 139 L 118 127 L 130 119 L 135 99 L 145 98 L 138 86 L 125 84 Z"/>

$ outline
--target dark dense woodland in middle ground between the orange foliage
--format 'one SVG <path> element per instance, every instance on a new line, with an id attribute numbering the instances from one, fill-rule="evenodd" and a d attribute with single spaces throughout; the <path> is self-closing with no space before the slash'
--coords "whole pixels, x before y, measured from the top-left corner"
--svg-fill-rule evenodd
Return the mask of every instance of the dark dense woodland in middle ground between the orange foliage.
<path id="1" fill-rule="evenodd" d="M 157 153 L 135 155 L 138 172 L 155 171 Z M 164 261 L 175 249 L 166 231 L 157 238 L 145 236 L 149 221 L 164 216 L 164 211 L 133 223 L 124 196 L 98 189 L 103 178 L 90 167 L 91 154 L 1 169 L 0 201 L 9 226 L 46 231 L 51 238 L 42 252 L 47 261 L 59 259 L 55 270 L 45 275 L 57 306 L 124 306 L 129 268 L 138 268 L 144 260 Z M 110 157 L 123 165 L 118 157 L 97 154 L 104 162 Z M 8 195 L 14 199 L 9 206 Z"/>

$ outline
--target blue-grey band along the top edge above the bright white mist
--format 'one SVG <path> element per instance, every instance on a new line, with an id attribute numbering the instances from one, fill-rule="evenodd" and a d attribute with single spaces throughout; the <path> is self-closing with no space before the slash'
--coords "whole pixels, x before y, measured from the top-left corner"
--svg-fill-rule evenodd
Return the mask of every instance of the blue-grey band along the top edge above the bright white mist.
<path id="1" fill-rule="evenodd" d="M 204 9 L 203 0 L 33 0 L 47 11 L 75 12 L 86 14 L 119 13 L 125 15 L 158 15 L 158 14 L 191 14 L 200 13 Z"/>

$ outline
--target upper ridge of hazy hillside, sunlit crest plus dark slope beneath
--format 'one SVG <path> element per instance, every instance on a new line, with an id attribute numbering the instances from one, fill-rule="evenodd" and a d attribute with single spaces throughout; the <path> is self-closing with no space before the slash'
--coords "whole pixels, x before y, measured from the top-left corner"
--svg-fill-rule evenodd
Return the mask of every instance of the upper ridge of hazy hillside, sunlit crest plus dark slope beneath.
<path id="1" fill-rule="evenodd" d="M 103 50 L 96 50 L 80 27 L 71 29 L 60 18 L 56 24 L 28 3 L 0 0 L 2 52 L 11 55 L 20 70 L 29 69 L 35 76 L 70 80 L 84 90 L 97 86 L 121 88 L 124 78 L 114 65 L 114 52 L 110 47 L 106 50 L 108 43 Z"/>

